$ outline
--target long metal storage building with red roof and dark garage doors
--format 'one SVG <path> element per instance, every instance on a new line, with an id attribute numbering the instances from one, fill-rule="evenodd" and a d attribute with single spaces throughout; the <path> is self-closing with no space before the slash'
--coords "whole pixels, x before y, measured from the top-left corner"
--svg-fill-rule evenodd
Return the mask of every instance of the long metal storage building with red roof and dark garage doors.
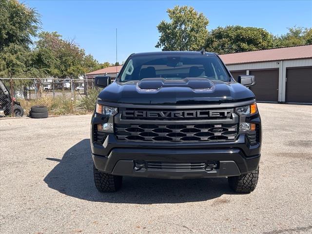
<path id="1" fill-rule="evenodd" d="M 234 78 L 254 75 L 257 101 L 312 104 L 312 45 L 220 55 Z"/>

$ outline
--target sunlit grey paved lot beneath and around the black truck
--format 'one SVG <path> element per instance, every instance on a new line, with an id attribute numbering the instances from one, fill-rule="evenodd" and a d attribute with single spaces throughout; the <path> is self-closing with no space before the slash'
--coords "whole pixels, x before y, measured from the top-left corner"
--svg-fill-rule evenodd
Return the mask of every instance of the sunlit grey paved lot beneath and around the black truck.
<path id="1" fill-rule="evenodd" d="M 260 177 L 93 183 L 90 115 L 0 120 L 0 233 L 312 233 L 312 106 L 258 104 Z"/>

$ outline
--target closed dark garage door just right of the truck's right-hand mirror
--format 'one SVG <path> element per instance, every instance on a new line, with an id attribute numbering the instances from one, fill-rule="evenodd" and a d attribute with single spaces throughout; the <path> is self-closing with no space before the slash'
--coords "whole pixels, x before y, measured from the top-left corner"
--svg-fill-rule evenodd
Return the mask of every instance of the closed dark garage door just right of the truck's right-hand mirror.
<path id="1" fill-rule="evenodd" d="M 250 87 L 257 101 L 278 101 L 278 69 L 250 71 L 255 85 Z"/>

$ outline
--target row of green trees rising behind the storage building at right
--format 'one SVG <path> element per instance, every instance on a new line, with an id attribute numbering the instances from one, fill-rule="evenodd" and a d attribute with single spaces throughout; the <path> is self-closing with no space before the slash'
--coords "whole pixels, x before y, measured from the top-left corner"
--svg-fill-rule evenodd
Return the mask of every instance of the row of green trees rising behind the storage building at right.
<path id="1" fill-rule="evenodd" d="M 200 50 L 229 54 L 276 47 L 312 44 L 312 28 L 294 26 L 284 35 L 275 36 L 263 28 L 229 25 L 207 30 L 209 20 L 189 6 L 167 10 L 169 22 L 162 20 L 157 48 L 166 50 Z"/>

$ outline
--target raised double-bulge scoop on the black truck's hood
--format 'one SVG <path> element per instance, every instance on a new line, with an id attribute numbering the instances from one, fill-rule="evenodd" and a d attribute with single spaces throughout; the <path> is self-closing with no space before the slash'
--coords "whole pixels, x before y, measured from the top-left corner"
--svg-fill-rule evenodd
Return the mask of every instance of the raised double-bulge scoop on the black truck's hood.
<path id="1" fill-rule="evenodd" d="M 137 82 L 137 89 L 140 91 L 157 91 L 165 87 L 189 87 L 197 91 L 208 91 L 214 88 L 214 83 L 207 78 L 144 78 Z"/>

